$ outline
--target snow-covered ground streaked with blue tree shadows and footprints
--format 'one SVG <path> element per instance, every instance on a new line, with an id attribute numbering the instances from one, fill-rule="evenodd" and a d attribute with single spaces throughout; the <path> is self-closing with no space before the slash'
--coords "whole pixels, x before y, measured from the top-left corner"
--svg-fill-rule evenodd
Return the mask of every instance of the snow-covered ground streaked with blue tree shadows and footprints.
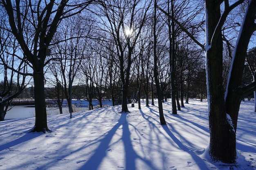
<path id="1" fill-rule="evenodd" d="M 145 101 L 144 101 L 145 102 Z M 34 118 L 0 122 L 0 170 L 256 170 L 254 101 L 242 102 L 238 118 L 238 162 L 212 162 L 207 154 L 207 101 L 190 100 L 177 115 L 158 107 L 128 105 L 49 115 L 51 133 L 29 132 Z M 157 104 L 157 102 L 155 102 Z"/>

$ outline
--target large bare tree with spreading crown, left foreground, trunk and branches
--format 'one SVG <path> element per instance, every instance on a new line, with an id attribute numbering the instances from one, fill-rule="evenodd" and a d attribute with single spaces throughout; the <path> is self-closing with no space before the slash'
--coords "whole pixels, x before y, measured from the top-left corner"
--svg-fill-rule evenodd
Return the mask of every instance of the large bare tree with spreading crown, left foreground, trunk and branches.
<path id="1" fill-rule="evenodd" d="M 9 17 L 11 33 L 16 37 L 20 48 L 33 69 L 36 123 L 32 131 L 50 131 L 44 94 L 44 66 L 49 54 L 48 46 L 63 18 L 81 12 L 92 1 L 79 3 L 76 0 L 51 1 L 11 1 L 1 0 Z"/>

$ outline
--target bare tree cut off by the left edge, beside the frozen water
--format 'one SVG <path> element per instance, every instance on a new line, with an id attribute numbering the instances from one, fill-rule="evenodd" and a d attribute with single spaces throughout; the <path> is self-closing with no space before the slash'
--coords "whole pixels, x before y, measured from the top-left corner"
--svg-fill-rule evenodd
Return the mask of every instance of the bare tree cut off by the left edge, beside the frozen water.
<path id="1" fill-rule="evenodd" d="M 12 99 L 18 97 L 29 83 L 29 79 L 26 79 L 29 74 L 27 74 L 27 64 L 24 61 L 24 57 L 19 56 L 17 41 L 9 31 L 4 29 L 6 24 L 3 20 L 4 16 L 1 16 L 0 74 L 2 79 L 0 82 L 0 121 L 4 121 L 7 111 L 10 110 L 9 106 Z M 16 60 L 19 59 L 21 62 L 17 63 Z"/>

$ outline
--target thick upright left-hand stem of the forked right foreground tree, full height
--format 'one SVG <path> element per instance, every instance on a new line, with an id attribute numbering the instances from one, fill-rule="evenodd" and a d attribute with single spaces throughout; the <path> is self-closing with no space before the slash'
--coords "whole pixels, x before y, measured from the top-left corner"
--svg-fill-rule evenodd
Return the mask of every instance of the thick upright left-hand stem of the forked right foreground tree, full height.
<path id="1" fill-rule="evenodd" d="M 209 155 L 215 161 L 234 163 L 236 159 L 236 133 L 229 123 L 222 87 L 222 36 L 211 37 L 220 19 L 218 2 L 206 0 L 206 74 L 209 105 Z"/>

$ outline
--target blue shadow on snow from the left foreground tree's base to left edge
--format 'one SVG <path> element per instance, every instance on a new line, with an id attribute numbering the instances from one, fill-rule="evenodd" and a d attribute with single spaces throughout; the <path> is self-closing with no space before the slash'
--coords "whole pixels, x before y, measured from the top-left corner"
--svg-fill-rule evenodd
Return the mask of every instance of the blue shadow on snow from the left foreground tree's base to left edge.
<path id="1" fill-rule="evenodd" d="M 41 135 L 41 133 L 33 133 L 33 132 L 30 132 L 29 133 L 29 131 L 25 134 L 25 135 L 23 135 L 22 137 L 20 137 L 20 138 L 18 138 L 18 139 L 15 139 L 14 141 L 10 141 L 10 142 L 8 142 L 8 143 L 6 143 L 6 144 L 3 144 L 3 145 L 1 145 L 0 146 L 0 151 L 2 151 L 2 150 L 5 150 L 5 149 L 9 149 L 9 148 L 11 148 L 11 147 L 13 147 L 13 146 L 16 146 L 16 145 L 18 145 L 18 144 L 21 144 L 21 143 L 23 143 L 23 142 L 26 142 L 26 141 L 29 141 L 29 140 L 31 140 L 31 139 L 34 139 L 34 138 L 36 138 L 36 137 L 38 137 L 38 136 L 40 136 Z"/>

